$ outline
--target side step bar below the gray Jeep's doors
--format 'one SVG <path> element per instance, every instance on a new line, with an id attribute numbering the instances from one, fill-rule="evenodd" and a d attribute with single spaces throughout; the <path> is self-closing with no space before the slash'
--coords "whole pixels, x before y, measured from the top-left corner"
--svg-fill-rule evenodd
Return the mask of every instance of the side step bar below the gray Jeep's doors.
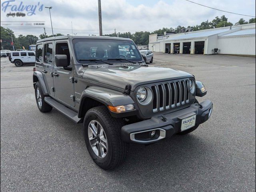
<path id="1" fill-rule="evenodd" d="M 59 112 L 61 112 L 62 114 L 64 114 L 65 116 L 67 116 L 68 118 L 70 118 L 75 123 L 81 123 L 82 122 L 82 119 L 78 118 L 78 116 L 77 116 L 78 114 L 76 112 L 74 112 L 73 110 L 65 107 L 64 105 L 60 104 L 56 100 L 54 100 L 50 97 L 44 97 L 44 101 L 46 103 L 48 103 L 50 106 L 52 106 L 53 108 L 55 108 L 56 110 L 58 110 Z"/>

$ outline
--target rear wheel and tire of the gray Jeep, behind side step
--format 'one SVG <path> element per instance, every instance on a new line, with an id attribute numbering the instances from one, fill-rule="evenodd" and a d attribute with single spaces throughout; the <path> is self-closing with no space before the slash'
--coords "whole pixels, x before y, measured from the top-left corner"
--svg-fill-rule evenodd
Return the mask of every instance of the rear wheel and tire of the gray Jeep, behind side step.
<path id="1" fill-rule="evenodd" d="M 45 113 L 52 110 L 52 106 L 44 101 L 44 92 L 42 90 L 40 82 L 36 82 L 35 84 L 35 96 L 36 104 L 41 112 Z"/>

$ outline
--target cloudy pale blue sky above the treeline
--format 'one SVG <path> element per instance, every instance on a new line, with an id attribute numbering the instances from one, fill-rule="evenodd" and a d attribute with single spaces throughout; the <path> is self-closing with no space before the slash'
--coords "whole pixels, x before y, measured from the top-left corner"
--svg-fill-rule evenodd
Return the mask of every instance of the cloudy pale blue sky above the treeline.
<path id="1" fill-rule="evenodd" d="M 192 0 L 206 6 L 255 16 L 255 0 Z M 34 14 L 31 11 L 18 10 L 23 6 L 36 6 Z M 8 6 L 7 6 L 8 5 Z M 40 11 L 40 6 L 42 10 Z M 44 32 L 42 27 L 23 28 L 25 22 L 45 21 L 46 33 L 51 34 L 49 10 L 44 6 L 52 6 L 52 25 L 54 34 L 73 33 L 98 34 L 98 0 L 1 0 L 1 26 L 10 26 L 15 35 L 33 34 L 38 36 Z M 22 12 L 24 17 L 9 16 L 8 13 Z M 225 15 L 228 21 L 235 24 L 240 18 L 249 20 L 251 17 L 240 16 L 213 10 L 186 0 L 102 0 L 103 34 L 117 32 L 134 33 L 135 31 L 154 31 L 162 27 L 175 28 L 178 25 L 192 26 L 202 21 Z M 21 22 L 17 22 L 21 21 Z"/>

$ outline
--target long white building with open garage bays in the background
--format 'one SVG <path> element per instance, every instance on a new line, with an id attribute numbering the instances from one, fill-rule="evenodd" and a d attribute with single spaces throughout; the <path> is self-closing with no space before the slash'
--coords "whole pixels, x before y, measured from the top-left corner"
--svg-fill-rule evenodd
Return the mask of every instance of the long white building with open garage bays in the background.
<path id="1" fill-rule="evenodd" d="M 185 33 L 149 35 L 149 49 L 171 54 L 255 56 L 255 23 Z"/>

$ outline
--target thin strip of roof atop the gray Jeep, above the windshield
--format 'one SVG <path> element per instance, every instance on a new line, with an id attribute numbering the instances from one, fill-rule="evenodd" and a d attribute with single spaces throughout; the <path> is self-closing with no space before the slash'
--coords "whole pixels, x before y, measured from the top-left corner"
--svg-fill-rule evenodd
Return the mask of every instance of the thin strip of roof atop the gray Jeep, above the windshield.
<path id="1" fill-rule="evenodd" d="M 61 40 L 61 39 L 112 39 L 112 40 L 130 40 L 129 38 L 121 38 L 121 37 L 109 37 L 109 36 L 79 36 L 79 35 L 63 35 L 63 36 L 56 36 L 56 37 L 49 37 L 45 39 L 40 39 L 36 43 L 44 42 L 44 41 L 52 41 L 52 40 Z"/>

